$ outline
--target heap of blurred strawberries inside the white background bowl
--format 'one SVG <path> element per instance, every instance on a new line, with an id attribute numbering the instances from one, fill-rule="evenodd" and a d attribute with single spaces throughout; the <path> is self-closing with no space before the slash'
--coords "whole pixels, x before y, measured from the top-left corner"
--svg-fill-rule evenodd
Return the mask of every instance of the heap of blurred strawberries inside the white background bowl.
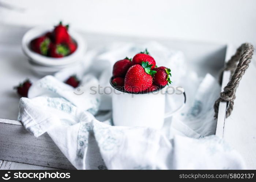
<path id="1" fill-rule="evenodd" d="M 52 58 L 62 58 L 75 52 L 77 45 L 68 33 L 68 25 L 61 21 L 52 32 L 37 37 L 30 42 L 32 51 Z"/>

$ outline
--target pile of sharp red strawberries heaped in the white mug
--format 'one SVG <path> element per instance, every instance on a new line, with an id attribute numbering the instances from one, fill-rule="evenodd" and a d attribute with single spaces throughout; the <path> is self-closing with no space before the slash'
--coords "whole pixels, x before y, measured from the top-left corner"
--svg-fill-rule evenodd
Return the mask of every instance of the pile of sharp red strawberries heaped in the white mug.
<path id="1" fill-rule="evenodd" d="M 154 58 L 146 49 L 132 59 L 126 57 L 114 64 L 112 84 L 131 93 L 152 92 L 172 83 L 170 72 L 164 66 L 157 67 Z"/>

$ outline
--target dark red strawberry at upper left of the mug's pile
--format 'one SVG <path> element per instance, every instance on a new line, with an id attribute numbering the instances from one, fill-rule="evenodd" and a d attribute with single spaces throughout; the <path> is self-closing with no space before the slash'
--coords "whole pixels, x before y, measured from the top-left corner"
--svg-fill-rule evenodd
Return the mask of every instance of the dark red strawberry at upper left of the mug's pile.
<path id="1" fill-rule="evenodd" d="M 114 77 L 125 77 L 128 69 L 132 66 L 131 59 L 124 58 L 117 61 L 113 66 L 113 76 Z"/>

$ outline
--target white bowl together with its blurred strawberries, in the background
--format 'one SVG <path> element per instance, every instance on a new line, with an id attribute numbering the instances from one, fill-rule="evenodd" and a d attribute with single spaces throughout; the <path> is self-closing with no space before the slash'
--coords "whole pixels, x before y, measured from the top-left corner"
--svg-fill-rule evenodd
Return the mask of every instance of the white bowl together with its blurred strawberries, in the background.
<path id="1" fill-rule="evenodd" d="M 35 27 L 27 31 L 22 38 L 22 50 L 32 70 L 56 72 L 82 60 L 86 42 L 60 22 L 55 27 Z"/>

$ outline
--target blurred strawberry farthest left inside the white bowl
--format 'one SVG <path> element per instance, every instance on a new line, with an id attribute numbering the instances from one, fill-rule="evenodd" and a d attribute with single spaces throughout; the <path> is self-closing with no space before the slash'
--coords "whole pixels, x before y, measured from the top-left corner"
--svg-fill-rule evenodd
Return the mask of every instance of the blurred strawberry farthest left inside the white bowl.
<path id="1" fill-rule="evenodd" d="M 42 55 L 47 55 L 50 39 L 46 36 L 38 37 L 30 42 L 31 50 Z"/>

